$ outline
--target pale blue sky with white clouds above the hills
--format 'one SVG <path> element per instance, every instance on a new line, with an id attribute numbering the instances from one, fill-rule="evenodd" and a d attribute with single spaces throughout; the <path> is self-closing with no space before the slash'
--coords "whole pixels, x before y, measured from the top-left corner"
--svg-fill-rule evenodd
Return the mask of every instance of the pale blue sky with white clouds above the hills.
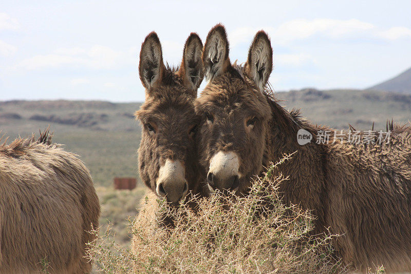
<path id="1" fill-rule="evenodd" d="M 377 0 L 0 0 L 0 101 L 144 101 L 145 36 L 156 31 L 164 61 L 178 65 L 190 32 L 204 43 L 217 23 L 237 63 L 256 31 L 268 32 L 276 92 L 366 88 L 411 67 L 410 10 L 410 1 Z"/>

